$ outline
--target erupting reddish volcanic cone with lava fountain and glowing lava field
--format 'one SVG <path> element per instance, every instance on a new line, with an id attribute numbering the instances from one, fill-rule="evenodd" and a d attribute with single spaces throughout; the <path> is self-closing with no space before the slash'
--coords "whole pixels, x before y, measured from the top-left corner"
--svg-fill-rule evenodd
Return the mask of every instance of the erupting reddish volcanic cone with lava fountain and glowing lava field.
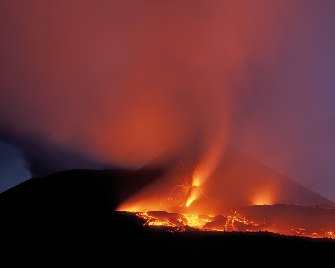
<path id="1" fill-rule="evenodd" d="M 157 158 L 143 167 L 140 173 L 153 166 L 163 172 L 117 210 L 136 212 L 146 220 L 145 225 L 168 226 L 172 232 L 190 226 L 203 231 L 268 230 L 335 238 L 332 201 L 235 148 L 226 148 L 206 181 L 201 179 L 204 167 L 192 166 L 187 172 L 183 162 L 175 163 L 174 169 L 173 162 Z M 174 173 L 174 179 L 168 181 Z"/>

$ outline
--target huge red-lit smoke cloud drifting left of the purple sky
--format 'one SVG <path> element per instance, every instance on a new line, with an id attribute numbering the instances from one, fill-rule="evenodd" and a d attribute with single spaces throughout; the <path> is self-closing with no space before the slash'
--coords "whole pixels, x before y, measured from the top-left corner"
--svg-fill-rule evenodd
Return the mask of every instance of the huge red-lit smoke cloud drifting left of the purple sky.
<path id="1" fill-rule="evenodd" d="M 236 5 L 2 3 L 2 126 L 114 165 L 190 140 L 213 160 L 243 102 L 248 53 L 264 42 L 272 54 L 279 38 L 255 31 L 261 21 L 244 28 L 261 6 Z"/>

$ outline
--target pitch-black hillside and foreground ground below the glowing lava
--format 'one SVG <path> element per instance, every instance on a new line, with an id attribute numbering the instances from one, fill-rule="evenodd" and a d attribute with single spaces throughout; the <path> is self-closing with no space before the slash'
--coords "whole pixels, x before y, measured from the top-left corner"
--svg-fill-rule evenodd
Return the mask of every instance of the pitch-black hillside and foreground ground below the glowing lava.
<path id="1" fill-rule="evenodd" d="M 143 220 L 133 213 L 114 211 L 132 194 L 132 187 L 127 187 L 132 174 L 124 170 L 68 171 L 31 179 L 1 193 L 1 256 L 23 252 L 36 259 L 47 257 L 49 263 L 68 257 L 75 262 L 104 257 L 121 260 L 122 266 L 159 266 L 227 259 L 241 264 L 265 256 L 327 258 L 335 252 L 332 239 L 193 228 L 171 233 L 165 227 L 143 226 Z M 120 194 L 128 188 L 129 193 Z"/>

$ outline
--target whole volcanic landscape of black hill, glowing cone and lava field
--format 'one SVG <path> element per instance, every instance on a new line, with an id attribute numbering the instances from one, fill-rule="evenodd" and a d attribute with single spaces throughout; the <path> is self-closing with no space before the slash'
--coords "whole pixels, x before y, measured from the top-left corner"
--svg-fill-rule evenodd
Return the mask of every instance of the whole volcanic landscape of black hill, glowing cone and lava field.
<path id="1" fill-rule="evenodd" d="M 222 251 L 242 252 L 236 251 L 241 245 L 263 252 L 334 247 L 332 201 L 232 147 L 208 180 L 200 178 L 197 185 L 188 177 L 186 194 L 176 205 L 171 181 L 194 171 L 189 159 L 182 157 L 182 169 L 180 159 L 159 156 L 138 171 L 71 170 L 27 180 L 0 194 L 2 243 L 36 251 L 34 241 L 39 252 L 99 249 L 115 258 L 131 254 L 156 261 L 171 259 L 177 244 L 184 254 L 174 261 L 185 254 L 215 260 Z M 262 199 L 269 203 L 256 204 L 257 194 L 271 198 Z M 297 205 L 272 204 L 277 202 Z"/>

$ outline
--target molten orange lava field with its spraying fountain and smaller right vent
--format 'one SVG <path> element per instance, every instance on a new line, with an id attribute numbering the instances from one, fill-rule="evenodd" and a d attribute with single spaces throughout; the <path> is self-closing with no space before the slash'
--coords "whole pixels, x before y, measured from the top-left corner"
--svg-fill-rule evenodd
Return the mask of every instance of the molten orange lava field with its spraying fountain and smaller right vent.
<path id="1" fill-rule="evenodd" d="M 139 200 L 131 205 L 126 202 L 126 205 L 118 210 L 136 212 L 138 217 L 146 220 L 144 225 L 167 226 L 172 232 L 183 231 L 185 226 L 190 226 L 203 231 L 268 230 L 284 235 L 335 239 L 335 209 L 284 204 L 265 205 L 272 202 L 273 189 L 264 186 L 254 194 L 255 205 L 227 209 L 225 204 L 211 199 L 204 193 L 199 166 L 196 169 L 193 167 L 190 174 L 186 172 L 182 162 L 179 163 L 179 168 L 182 169 L 182 173 L 170 181 L 171 191 L 165 198 L 170 206 L 161 206 L 162 203 L 159 203 L 157 209 L 157 201 L 150 204 L 149 201 Z M 145 203 L 146 209 L 134 209 L 141 207 L 139 203 Z"/>

